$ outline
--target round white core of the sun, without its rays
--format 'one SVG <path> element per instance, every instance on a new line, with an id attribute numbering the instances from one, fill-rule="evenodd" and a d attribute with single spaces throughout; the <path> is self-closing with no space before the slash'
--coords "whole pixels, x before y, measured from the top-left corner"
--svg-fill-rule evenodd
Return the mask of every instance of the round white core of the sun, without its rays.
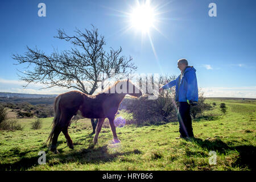
<path id="1" fill-rule="evenodd" d="M 142 32 L 148 32 L 151 27 L 154 27 L 155 10 L 150 6 L 149 1 L 133 9 L 130 13 L 131 27 Z"/>

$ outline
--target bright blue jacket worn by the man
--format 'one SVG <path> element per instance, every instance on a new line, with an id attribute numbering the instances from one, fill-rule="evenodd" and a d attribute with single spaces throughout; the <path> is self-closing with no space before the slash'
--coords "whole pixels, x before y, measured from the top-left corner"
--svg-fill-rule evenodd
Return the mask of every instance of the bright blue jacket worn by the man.
<path id="1" fill-rule="evenodd" d="M 179 102 L 187 102 L 187 100 L 198 101 L 198 88 L 196 80 L 196 69 L 193 67 L 185 68 L 183 78 L 181 79 L 181 84 L 179 88 L 179 75 L 176 80 L 168 82 L 164 85 L 163 89 L 171 88 L 176 86 L 175 89 L 175 100 Z"/>

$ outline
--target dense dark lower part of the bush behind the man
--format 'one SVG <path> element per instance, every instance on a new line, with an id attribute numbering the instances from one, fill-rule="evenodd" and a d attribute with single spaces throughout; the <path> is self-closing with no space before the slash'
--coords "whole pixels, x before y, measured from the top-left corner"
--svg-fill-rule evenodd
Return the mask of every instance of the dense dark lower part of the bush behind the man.
<path id="1" fill-rule="evenodd" d="M 126 105 L 126 108 L 133 113 L 134 123 L 137 126 L 144 126 L 163 125 L 164 123 L 177 121 L 177 103 L 170 93 L 166 90 L 160 93 L 156 100 L 148 100 L 146 97 L 142 97 L 140 100 L 133 100 L 129 105 Z M 205 110 L 212 107 L 204 101 L 203 92 L 200 92 L 197 105 L 191 107 L 191 115 L 194 119 L 197 115 L 203 114 Z"/>

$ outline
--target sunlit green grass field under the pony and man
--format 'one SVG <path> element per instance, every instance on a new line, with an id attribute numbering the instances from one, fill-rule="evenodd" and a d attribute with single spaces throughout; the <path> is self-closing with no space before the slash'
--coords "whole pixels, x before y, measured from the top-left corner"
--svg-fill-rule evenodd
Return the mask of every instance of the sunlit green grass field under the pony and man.
<path id="1" fill-rule="evenodd" d="M 255 170 L 256 101 L 206 102 L 216 106 L 193 121 L 195 139 L 176 139 L 177 122 L 127 125 L 117 128 L 120 144 L 111 144 L 112 131 L 105 127 L 93 146 L 90 121 L 83 119 L 69 128 L 74 150 L 60 134 L 60 154 L 50 152 L 46 144 L 52 118 L 44 118 L 39 130 L 30 129 L 34 119 L 19 119 L 23 131 L 0 131 L 0 170 Z M 225 115 L 221 102 L 228 107 Z M 45 165 L 38 164 L 39 151 L 46 152 Z M 209 164 L 210 151 L 217 154 L 216 164 Z"/>

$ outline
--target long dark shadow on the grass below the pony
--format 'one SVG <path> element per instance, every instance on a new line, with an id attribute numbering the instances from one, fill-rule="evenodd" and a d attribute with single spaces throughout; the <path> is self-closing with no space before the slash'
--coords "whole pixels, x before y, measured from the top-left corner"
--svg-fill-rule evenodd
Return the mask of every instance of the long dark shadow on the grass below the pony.
<path id="1" fill-rule="evenodd" d="M 44 148 L 45 149 L 45 148 Z M 80 164 L 98 164 L 112 162 L 117 159 L 118 156 L 141 154 L 139 150 L 133 150 L 128 152 L 115 151 L 109 152 L 108 145 L 96 147 L 94 144 L 90 144 L 88 148 L 84 148 L 80 151 L 69 151 L 63 154 L 63 151 L 59 149 L 60 154 L 53 154 L 51 151 L 46 151 L 46 164 L 48 166 L 54 166 L 63 163 L 79 162 Z M 39 166 L 38 159 L 40 156 L 23 157 L 14 163 L 0 163 L 0 171 L 6 170 L 27 170 L 31 167 Z M 43 164 L 42 164 L 43 165 Z"/>

